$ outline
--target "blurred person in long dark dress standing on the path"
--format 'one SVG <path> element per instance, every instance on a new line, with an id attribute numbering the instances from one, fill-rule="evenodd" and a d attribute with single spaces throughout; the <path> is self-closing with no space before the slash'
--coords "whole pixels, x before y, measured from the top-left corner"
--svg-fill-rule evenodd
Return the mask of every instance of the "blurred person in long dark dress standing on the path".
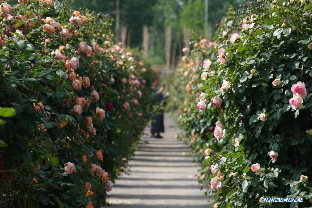
<path id="1" fill-rule="evenodd" d="M 153 80 L 152 88 L 155 93 L 155 102 L 160 104 L 164 100 L 163 90 L 165 89 L 165 85 L 163 85 L 160 89 L 158 89 L 158 85 L 159 79 L 158 77 L 155 77 Z M 151 138 L 163 138 L 162 136 L 160 136 L 160 132 L 165 132 L 163 125 L 163 109 L 159 110 L 152 118 Z"/>

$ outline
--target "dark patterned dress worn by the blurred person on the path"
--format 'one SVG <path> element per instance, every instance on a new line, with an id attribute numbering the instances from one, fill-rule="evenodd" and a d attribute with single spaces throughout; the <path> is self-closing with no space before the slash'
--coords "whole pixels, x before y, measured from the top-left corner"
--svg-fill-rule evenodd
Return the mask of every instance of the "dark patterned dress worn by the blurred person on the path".
<path id="1" fill-rule="evenodd" d="M 163 93 L 157 94 L 157 91 L 159 89 L 154 89 L 155 93 L 155 101 L 160 104 L 163 101 Z M 157 100 L 158 98 L 158 100 Z M 156 115 L 152 118 L 152 127 L 151 127 L 151 133 L 160 133 L 165 132 L 164 125 L 163 125 L 163 110 L 159 110 L 156 112 Z"/>

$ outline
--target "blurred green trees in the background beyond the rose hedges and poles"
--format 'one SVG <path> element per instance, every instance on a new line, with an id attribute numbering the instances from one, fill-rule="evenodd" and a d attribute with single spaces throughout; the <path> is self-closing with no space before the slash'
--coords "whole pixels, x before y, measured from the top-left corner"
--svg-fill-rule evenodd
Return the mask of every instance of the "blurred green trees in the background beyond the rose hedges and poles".
<path id="1" fill-rule="evenodd" d="M 217 29 L 217 24 L 227 12 L 230 4 L 238 10 L 239 5 L 247 0 L 208 0 L 208 22 L 211 33 Z M 116 0 L 72 0 L 72 7 L 76 10 L 89 9 L 95 12 L 109 14 L 116 17 Z M 165 63 L 165 29 L 172 27 L 171 55 L 181 55 L 180 48 L 173 45 L 177 41 L 183 43 L 183 26 L 186 26 L 204 36 L 205 28 L 205 0 L 119 0 L 120 25 L 127 27 L 130 41 L 128 46 L 142 48 L 143 29 L 149 28 L 149 61 L 154 65 Z M 177 40 L 180 33 L 180 40 Z"/>

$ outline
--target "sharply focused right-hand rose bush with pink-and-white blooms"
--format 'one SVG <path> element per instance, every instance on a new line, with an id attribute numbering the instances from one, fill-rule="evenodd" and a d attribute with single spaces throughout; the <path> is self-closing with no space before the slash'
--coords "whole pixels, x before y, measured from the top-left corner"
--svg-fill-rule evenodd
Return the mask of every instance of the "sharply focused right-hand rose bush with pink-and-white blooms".
<path id="1" fill-rule="evenodd" d="M 218 114 L 210 139 L 221 148 L 204 152 L 214 206 L 310 207 L 312 4 L 258 2 L 242 6 L 241 31 L 222 32 L 211 61 L 196 57 L 206 83 L 197 107 Z M 304 202 L 265 203 L 273 196 Z"/>

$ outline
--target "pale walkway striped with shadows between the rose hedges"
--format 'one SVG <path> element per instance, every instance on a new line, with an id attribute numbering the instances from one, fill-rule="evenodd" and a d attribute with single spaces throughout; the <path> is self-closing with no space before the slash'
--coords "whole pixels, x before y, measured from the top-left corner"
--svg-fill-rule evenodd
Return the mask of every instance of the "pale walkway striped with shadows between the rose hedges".
<path id="1" fill-rule="evenodd" d="M 200 190 L 197 164 L 189 148 L 174 135 L 178 126 L 170 114 L 165 114 L 163 139 L 144 136 L 141 148 L 129 162 L 129 175 L 123 175 L 115 182 L 107 202 L 112 208 L 154 207 L 154 208 L 209 208 L 207 199 Z M 147 142 L 147 143 L 146 143 Z"/>

